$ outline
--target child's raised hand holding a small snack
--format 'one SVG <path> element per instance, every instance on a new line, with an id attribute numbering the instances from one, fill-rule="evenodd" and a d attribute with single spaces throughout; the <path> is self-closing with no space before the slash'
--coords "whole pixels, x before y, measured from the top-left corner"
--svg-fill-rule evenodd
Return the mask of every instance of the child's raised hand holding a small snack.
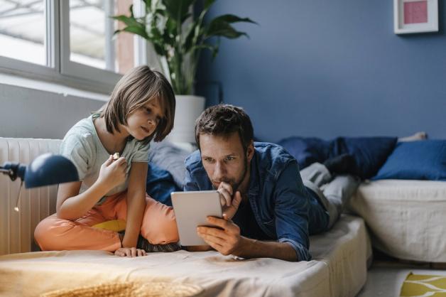
<path id="1" fill-rule="evenodd" d="M 126 158 L 121 157 L 116 161 L 113 161 L 113 156 L 109 156 L 107 161 L 101 166 L 97 181 L 106 185 L 107 188 L 112 189 L 116 187 L 116 185 L 121 185 L 121 183 L 126 181 L 126 171 Z"/>

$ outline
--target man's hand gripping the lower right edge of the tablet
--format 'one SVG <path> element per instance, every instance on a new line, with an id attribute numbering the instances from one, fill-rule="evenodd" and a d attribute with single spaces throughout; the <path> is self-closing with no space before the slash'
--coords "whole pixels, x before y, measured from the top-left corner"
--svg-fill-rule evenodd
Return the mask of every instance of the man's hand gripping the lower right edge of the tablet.
<path id="1" fill-rule="evenodd" d="M 213 249 L 223 255 L 233 254 L 239 256 L 244 246 L 244 237 L 240 235 L 239 226 L 231 220 L 224 220 L 218 217 L 207 217 L 207 222 L 215 227 L 197 227 L 197 234 Z"/>

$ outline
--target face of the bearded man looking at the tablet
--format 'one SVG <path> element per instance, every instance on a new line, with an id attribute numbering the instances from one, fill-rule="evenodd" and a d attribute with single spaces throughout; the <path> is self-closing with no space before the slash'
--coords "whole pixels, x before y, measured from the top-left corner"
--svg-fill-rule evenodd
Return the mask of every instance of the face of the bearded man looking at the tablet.
<path id="1" fill-rule="evenodd" d="M 203 166 L 214 188 L 226 182 L 235 193 L 248 168 L 239 134 L 234 132 L 228 137 L 200 134 L 200 148 Z"/>

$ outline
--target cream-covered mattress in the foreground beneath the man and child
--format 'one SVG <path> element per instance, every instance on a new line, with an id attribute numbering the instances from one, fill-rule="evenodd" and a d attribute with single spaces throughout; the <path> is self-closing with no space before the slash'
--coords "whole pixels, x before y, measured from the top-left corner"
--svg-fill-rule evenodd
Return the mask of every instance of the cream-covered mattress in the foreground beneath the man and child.
<path id="1" fill-rule="evenodd" d="M 36 296 L 104 282 L 168 281 L 200 288 L 197 296 L 355 296 L 371 256 L 364 221 L 343 215 L 310 238 L 313 259 L 234 259 L 217 252 L 152 253 L 121 258 L 103 251 L 60 251 L 0 257 L 0 296 Z"/>

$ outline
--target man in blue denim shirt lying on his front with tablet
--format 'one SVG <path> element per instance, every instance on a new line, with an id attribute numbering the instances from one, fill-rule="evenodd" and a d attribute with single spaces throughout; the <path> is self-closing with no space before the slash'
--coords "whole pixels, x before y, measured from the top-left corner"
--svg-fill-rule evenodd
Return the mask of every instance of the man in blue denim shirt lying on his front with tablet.
<path id="1" fill-rule="evenodd" d="M 197 233 L 224 255 L 310 260 L 309 235 L 332 227 L 359 184 L 350 175 L 332 179 L 327 167 L 342 173 L 352 162 L 341 156 L 301 171 L 304 185 L 295 158 L 276 144 L 254 143 L 249 116 L 232 105 L 206 109 L 195 139 L 199 150 L 185 161 L 184 190 L 219 191 L 224 218 L 207 220 L 221 229 L 197 227 Z"/>

